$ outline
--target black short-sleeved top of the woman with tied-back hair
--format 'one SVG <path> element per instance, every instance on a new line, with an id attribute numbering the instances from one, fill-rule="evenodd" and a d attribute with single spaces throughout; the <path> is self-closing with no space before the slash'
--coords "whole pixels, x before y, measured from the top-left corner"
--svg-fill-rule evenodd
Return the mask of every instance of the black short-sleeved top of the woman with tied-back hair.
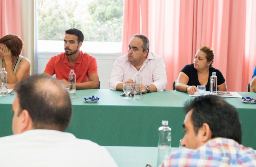
<path id="1" fill-rule="evenodd" d="M 188 64 L 186 65 L 181 72 L 184 72 L 189 80 L 188 80 L 188 85 L 201 85 L 199 80 L 198 80 L 198 75 L 197 75 L 197 70 L 194 68 L 194 64 Z M 210 77 L 212 76 L 212 72 L 216 72 L 217 76 L 217 85 L 221 85 L 222 83 L 225 82 L 225 78 L 223 77 L 222 73 L 217 70 L 216 68 L 209 68 L 209 77 L 208 77 L 208 82 L 205 85 L 206 91 L 210 91 Z"/>

